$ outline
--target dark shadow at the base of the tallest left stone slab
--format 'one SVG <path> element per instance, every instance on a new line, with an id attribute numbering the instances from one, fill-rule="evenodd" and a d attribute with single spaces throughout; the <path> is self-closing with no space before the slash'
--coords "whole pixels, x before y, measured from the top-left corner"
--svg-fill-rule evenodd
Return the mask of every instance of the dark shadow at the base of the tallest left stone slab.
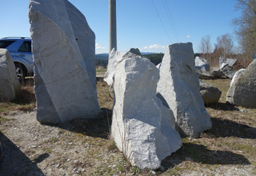
<path id="1" fill-rule="evenodd" d="M 101 108 L 101 111 L 101 117 L 96 119 L 75 119 L 68 124 L 50 125 L 42 123 L 42 125 L 57 126 L 58 128 L 77 132 L 86 136 L 108 139 L 112 121 L 112 110 Z"/>

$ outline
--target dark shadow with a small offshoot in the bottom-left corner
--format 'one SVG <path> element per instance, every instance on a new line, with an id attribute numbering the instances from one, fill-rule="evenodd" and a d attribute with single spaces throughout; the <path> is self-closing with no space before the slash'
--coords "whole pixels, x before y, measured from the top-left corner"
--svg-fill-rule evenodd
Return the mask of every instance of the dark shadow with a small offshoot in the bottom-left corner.
<path id="1" fill-rule="evenodd" d="M 41 154 L 38 158 L 31 161 L 2 132 L 0 132 L 0 140 L 3 147 L 3 158 L 0 161 L 0 175 L 45 175 L 37 167 L 37 164 L 45 160 L 49 154 Z"/>

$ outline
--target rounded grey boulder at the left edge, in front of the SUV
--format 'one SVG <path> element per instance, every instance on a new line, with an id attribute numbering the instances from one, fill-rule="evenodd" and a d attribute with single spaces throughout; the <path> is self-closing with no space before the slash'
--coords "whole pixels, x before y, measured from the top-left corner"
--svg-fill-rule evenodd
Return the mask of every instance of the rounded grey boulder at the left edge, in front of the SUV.
<path id="1" fill-rule="evenodd" d="M 0 49 L 0 101 L 13 100 L 21 89 L 12 56 L 6 49 Z"/>

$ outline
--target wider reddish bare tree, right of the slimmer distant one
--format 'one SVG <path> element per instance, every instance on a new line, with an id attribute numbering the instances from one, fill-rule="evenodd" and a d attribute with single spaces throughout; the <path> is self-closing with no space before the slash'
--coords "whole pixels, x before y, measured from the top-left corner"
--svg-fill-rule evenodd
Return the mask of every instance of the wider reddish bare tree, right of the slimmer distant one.
<path id="1" fill-rule="evenodd" d="M 217 44 L 215 44 L 215 48 L 219 50 L 222 57 L 230 57 L 232 53 L 234 53 L 232 36 L 229 34 L 225 34 L 217 37 Z"/>

